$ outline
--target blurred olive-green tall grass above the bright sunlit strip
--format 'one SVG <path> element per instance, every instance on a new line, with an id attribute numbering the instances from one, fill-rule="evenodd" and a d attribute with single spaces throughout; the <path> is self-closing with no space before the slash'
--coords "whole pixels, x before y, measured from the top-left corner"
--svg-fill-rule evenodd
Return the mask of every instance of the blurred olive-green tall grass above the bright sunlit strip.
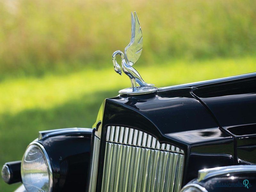
<path id="1" fill-rule="evenodd" d="M 254 0 L 3 0 L 0 77 L 108 67 L 130 41 L 131 11 L 144 37 L 140 65 L 255 56 Z"/>

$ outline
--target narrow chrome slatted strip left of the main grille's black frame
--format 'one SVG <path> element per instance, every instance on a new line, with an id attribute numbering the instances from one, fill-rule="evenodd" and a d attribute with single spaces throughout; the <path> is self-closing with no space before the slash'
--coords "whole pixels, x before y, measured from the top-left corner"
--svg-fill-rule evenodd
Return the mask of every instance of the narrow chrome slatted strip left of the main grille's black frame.
<path id="1" fill-rule="evenodd" d="M 88 187 L 89 192 L 93 192 L 96 190 L 99 153 L 100 153 L 100 139 L 98 137 L 94 136 L 92 159 L 91 159 L 90 180 L 89 180 L 89 187 Z"/>

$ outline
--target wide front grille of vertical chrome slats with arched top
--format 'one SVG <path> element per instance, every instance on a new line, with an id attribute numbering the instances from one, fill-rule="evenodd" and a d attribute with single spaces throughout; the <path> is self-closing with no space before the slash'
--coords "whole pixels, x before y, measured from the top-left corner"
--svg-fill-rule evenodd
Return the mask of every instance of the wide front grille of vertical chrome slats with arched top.
<path id="1" fill-rule="evenodd" d="M 179 191 L 183 154 L 145 132 L 108 126 L 101 191 Z"/>

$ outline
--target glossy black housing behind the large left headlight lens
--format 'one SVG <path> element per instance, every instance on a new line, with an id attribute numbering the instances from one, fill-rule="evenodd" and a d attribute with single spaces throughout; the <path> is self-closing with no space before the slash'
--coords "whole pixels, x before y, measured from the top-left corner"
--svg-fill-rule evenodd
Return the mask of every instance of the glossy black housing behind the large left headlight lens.
<path id="1" fill-rule="evenodd" d="M 50 157 L 53 191 L 87 187 L 92 132 L 68 132 L 38 140 Z"/>

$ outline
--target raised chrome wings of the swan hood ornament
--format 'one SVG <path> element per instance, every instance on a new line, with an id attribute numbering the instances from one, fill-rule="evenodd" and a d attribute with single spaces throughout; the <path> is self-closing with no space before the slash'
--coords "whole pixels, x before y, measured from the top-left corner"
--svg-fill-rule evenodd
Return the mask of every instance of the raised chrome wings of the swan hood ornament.
<path id="1" fill-rule="evenodd" d="M 142 31 L 140 28 L 140 22 L 138 16 L 135 13 L 135 19 L 132 14 L 132 37 L 129 45 L 124 49 L 125 59 L 128 65 L 132 66 L 136 63 L 141 55 L 143 47 Z"/>

